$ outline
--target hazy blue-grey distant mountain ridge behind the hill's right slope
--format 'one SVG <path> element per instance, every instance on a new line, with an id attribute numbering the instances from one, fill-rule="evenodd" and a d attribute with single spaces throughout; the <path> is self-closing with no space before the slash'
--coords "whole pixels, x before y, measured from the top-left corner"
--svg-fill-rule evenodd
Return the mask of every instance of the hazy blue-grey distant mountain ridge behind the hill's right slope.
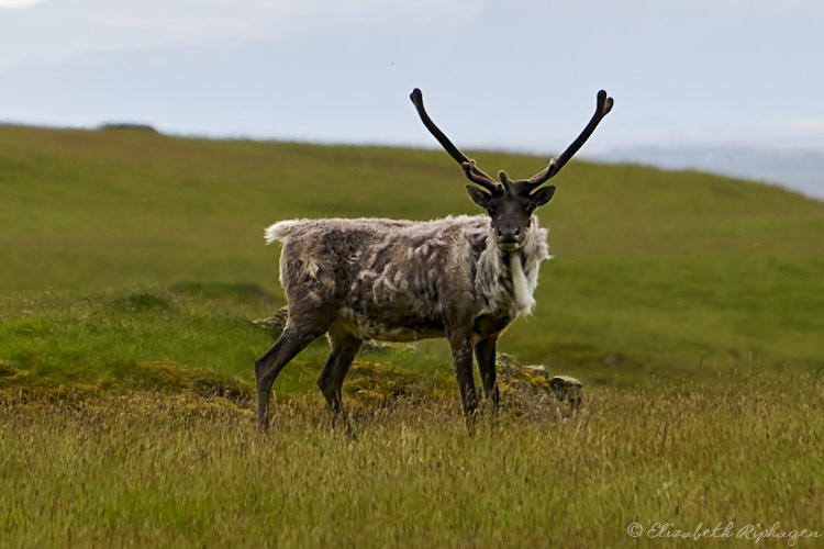
<path id="1" fill-rule="evenodd" d="M 614 149 L 597 159 L 710 171 L 775 183 L 824 200 L 824 149 L 639 146 Z"/>

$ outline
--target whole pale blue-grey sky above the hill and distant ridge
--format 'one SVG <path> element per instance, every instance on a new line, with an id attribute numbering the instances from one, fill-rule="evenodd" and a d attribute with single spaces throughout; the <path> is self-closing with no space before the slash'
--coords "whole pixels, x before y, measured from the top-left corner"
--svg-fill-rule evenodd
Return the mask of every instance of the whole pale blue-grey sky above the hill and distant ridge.
<path id="1" fill-rule="evenodd" d="M 0 121 L 555 154 L 824 149 L 821 0 L 0 0 Z"/>

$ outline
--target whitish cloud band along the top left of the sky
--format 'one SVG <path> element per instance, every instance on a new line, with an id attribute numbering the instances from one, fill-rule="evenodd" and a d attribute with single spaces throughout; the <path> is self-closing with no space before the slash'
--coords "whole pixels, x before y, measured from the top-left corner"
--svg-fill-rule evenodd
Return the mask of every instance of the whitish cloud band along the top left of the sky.
<path id="1" fill-rule="evenodd" d="M 443 4 L 442 4 L 443 2 Z M 0 69 L 78 55 L 159 46 L 199 47 L 286 40 L 350 27 L 455 32 L 485 2 L 471 0 L 0 0 Z M 322 38 L 321 38 L 322 40 Z"/>

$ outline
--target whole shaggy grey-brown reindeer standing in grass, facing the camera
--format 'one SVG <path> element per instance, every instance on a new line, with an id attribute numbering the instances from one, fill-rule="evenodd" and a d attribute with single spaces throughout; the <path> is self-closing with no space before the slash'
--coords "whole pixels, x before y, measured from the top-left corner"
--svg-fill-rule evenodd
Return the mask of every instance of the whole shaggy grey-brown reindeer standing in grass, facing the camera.
<path id="1" fill-rule="evenodd" d="M 288 303 L 282 334 L 255 361 L 258 430 L 269 425 L 271 385 L 307 345 L 326 334 L 330 355 L 318 379 L 335 416 L 348 419 L 341 386 L 365 339 L 412 341 L 446 337 L 467 424 L 478 406 L 472 355 L 483 395 L 497 407 L 495 345 L 535 301 L 538 267 L 549 257 L 546 229 L 533 214 L 555 193 L 542 187 L 594 132 L 613 100 L 599 91 L 583 132 L 531 179 L 495 181 L 464 156 L 430 119 L 421 90 L 411 100 L 421 121 L 460 164 L 469 198 L 487 215 L 430 222 L 381 219 L 292 220 L 266 229 L 282 243 L 280 282 Z"/>

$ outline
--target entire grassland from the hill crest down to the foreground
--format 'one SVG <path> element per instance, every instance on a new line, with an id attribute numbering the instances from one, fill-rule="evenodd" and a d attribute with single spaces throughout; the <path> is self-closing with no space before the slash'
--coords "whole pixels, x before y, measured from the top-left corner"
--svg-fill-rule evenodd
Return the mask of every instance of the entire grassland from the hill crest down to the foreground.
<path id="1" fill-rule="evenodd" d="M 578 413 L 510 406 L 470 436 L 443 341 L 367 349 L 348 440 L 315 388 L 321 340 L 278 378 L 260 438 L 252 365 L 272 339 L 252 321 L 283 304 L 264 227 L 476 213 L 460 170 L 442 152 L 0 126 L 0 545 L 824 535 L 824 203 L 581 161 L 555 182 L 538 213 L 556 257 L 499 350 L 582 379 Z"/>

